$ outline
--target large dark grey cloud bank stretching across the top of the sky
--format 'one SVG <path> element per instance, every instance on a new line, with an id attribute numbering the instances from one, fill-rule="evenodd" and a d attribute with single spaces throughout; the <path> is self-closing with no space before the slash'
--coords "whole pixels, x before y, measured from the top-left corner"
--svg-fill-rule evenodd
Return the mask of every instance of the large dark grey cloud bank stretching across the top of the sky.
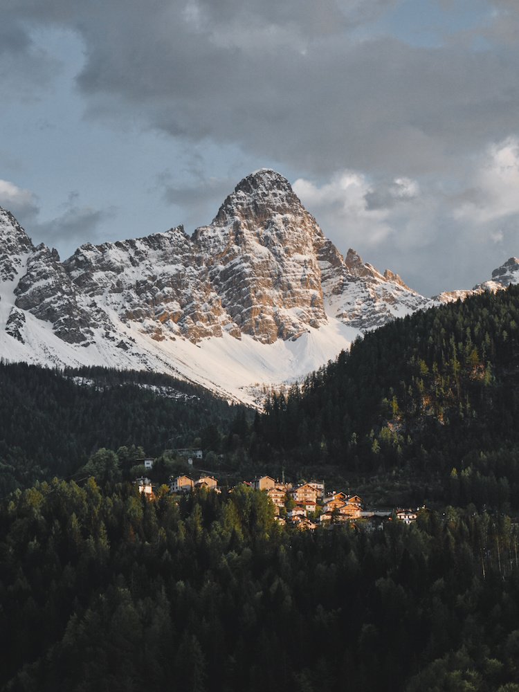
<path id="1" fill-rule="evenodd" d="M 302 174 L 443 172 L 460 167 L 475 143 L 515 132 L 516 46 L 493 55 L 354 40 L 349 26 L 390 4 L 327 0 L 318 12 L 309 0 L 156 0 L 151 8 L 113 0 L 95 12 L 64 0 L 11 6 L 18 18 L 51 17 L 81 33 L 78 85 L 91 114 L 233 143 Z"/>

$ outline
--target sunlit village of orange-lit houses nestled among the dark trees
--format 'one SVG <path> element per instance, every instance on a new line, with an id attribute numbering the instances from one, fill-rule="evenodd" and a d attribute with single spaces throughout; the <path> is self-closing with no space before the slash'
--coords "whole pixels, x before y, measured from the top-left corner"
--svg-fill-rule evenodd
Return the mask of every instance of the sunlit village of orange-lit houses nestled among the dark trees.
<path id="1" fill-rule="evenodd" d="M 183 450 L 182 450 L 183 451 Z M 201 454 L 197 456 L 201 458 Z M 152 468 L 153 460 L 145 460 L 145 468 Z M 152 481 L 147 477 L 136 479 L 140 493 L 148 498 L 154 498 Z M 342 522 L 358 522 L 362 520 L 370 529 L 383 528 L 384 522 L 394 519 L 410 524 L 417 518 L 419 509 L 379 509 L 365 507 L 358 495 L 350 495 L 343 491 L 325 491 L 325 482 L 318 480 L 302 481 L 298 484 L 276 480 L 269 475 L 256 477 L 253 481 L 242 481 L 239 485 L 263 491 L 271 500 L 275 520 L 299 529 L 316 529 L 318 526 L 336 525 Z M 233 492 L 237 486 L 225 487 Z M 212 475 L 201 475 L 194 480 L 189 475 L 170 477 L 170 493 L 181 496 L 205 489 L 221 493 L 218 480 Z"/>

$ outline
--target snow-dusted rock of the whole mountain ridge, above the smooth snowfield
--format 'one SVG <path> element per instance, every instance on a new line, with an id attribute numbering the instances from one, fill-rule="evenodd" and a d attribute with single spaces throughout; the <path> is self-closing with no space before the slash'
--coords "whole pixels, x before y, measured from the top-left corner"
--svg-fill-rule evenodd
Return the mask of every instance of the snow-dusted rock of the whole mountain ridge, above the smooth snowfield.
<path id="1" fill-rule="evenodd" d="M 18 310 L 5 328 L 15 338 L 29 312 L 83 346 L 101 337 L 127 350 L 118 322 L 137 324 L 156 342 L 227 333 L 271 344 L 296 340 L 329 316 L 372 329 L 427 303 L 396 274 L 382 275 L 352 250 L 340 255 L 272 170 L 243 179 L 192 238 L 179 226 L 85 244 L 65 262 L 55 250 L 35 248 L 8 212 L 1 219 L 1 277 L 16 279 Z"/>

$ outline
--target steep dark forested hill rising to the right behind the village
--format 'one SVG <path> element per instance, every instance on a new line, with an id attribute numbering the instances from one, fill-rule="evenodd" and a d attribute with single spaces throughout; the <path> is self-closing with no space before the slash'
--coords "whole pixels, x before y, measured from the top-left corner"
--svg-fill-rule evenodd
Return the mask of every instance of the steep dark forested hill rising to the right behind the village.
<path id="1" fill-rule="evenodd" d="M 519 502 L 519 286 L 366 334 L 272 394 L 253 454 L 351 473 L 439 475 L 453 504 Z"/>

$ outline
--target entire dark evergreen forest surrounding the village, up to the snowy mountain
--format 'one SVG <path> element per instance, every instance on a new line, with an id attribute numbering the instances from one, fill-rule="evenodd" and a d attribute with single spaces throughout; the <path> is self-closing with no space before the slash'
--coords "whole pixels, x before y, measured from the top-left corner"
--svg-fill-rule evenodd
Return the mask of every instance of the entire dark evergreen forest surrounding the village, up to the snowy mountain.
<path id="1" fill-rule="evenodd" d="M 255 415 L 0 363 L 0 689 L 519 692 L 518 379 L 519 286 L 366 334 Z M 180 446 L 221 493 L 161 485 Z M 232 487 L 253 471 L 426 506 L 301 531 Z"/>

